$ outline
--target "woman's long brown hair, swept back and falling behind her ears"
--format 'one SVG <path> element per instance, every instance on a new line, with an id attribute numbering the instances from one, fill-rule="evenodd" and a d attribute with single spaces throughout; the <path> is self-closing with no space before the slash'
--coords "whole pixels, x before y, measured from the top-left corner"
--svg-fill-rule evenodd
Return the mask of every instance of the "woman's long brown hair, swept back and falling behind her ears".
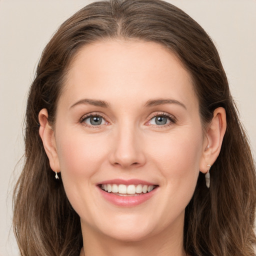
<path id="1" fill-rule="evenodd" d="M 43 50 L 27 100 L 25 164 L 13 199 L 21 255 L 79 254 L 79 216 L 50 169 L 38 133 L 38 113 L 46 108 L 54 125 L 70 61 L 81 46 L 104 38 L 153 41 L 174 52 L 192 77 L 202 125 L 211 120 L 215 108 L 225 108 L 227 129 L 211 168 L 210 188 L 199 174 L 185 209 L 183 246 L 191 256 L 254 255 L 255 166 L 219 55 L 198 23 L 161 0 L 91 3 L 66 20 Z"/>

